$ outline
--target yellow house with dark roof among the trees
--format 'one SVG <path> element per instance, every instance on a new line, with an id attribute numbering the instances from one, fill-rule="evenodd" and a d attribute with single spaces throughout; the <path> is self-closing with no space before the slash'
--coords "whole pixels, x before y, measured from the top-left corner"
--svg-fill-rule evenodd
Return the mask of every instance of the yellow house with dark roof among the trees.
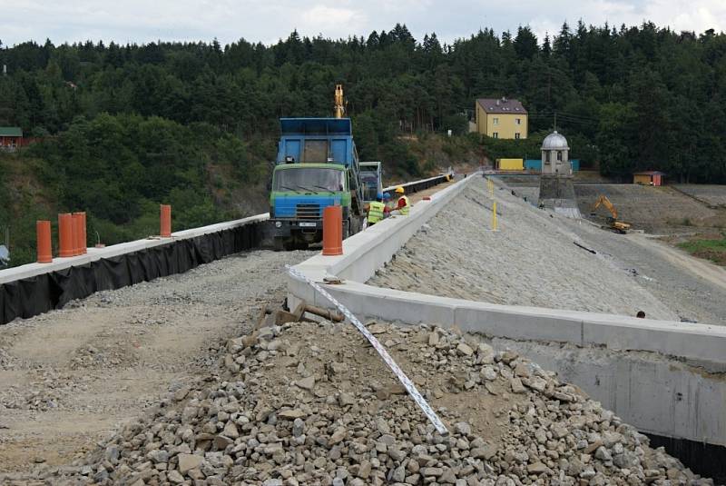
<path id="1" fill-rule="evenodd" d="M 527 111 L 517 100 L 479 98 L 476 100 L 476 132 L 492 138 L 527 137 Z"/>

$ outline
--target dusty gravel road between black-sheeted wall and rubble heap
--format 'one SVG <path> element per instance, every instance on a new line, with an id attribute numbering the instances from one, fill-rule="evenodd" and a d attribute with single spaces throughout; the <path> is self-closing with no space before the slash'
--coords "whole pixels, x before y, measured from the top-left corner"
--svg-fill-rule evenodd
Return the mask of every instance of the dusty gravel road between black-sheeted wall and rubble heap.
<path id="1" fill-rule="evenodd" d="M 311 254 L 240 253 L 0 326 L 0 472 L 74 461 L 209 375 L 220 344 L 282 302 L 283 265 Z"/>

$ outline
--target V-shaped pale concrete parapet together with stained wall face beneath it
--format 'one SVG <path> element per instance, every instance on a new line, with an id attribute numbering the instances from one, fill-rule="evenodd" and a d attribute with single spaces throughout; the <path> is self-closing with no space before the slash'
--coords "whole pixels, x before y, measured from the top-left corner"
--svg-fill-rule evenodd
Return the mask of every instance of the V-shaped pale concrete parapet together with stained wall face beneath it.
<path id="1" fill-rule="evenodd" d="M 349 238 L 343 255 L 316 255 L 296 268 L 317 282 L 343 278 L 326 289 L 360 318 L 437 323 L 507 340 L 643 431 L 726 445 L 724 327 L 478 303 L 365 283 L 466 183 L 481 181 L 460 181 L 431 203 L 417 204 L 407 220 L 388 220 Z M 291 305 L 330 305 L 292 277 L 288 290 Z M 576 352 L 564 351 L 568 345 Z"/>

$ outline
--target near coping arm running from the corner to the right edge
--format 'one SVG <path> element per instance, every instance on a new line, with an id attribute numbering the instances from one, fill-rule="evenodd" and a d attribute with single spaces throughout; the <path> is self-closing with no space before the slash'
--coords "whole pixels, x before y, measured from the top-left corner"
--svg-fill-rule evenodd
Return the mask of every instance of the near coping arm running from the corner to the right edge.
<path id="1" fill-rule="evenodd" d="M 304 268 L 301 267 L 301 268 Z M 321 275 L 323 273 L 319 273 Z M 289 292 L 319 302 L 305 283 Z M 648 351 L 687 359 L 711 372 L 726 371 L 726 328 L 687 322 L 636 320 L 594 312 L 476 303 L 423 293 L 380 289 L 365 283 L 330 285 L 330 293 L 352 312 L 392 322 L 439 323 L 465 332 L 541 342 L 569 342 L 619 351 Z"/>

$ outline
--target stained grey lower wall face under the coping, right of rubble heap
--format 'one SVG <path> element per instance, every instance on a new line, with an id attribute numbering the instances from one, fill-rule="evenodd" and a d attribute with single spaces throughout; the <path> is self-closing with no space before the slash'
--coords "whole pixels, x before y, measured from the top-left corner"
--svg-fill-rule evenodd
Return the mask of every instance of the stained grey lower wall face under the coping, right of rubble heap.
<path id="1" fill-rule="evenodd" d="M 576 383 L 603 407 L 640 431 L 726 445 L 724 377 L 651 352 L 610 352 L 495 339 L 565 382 Z"/>

